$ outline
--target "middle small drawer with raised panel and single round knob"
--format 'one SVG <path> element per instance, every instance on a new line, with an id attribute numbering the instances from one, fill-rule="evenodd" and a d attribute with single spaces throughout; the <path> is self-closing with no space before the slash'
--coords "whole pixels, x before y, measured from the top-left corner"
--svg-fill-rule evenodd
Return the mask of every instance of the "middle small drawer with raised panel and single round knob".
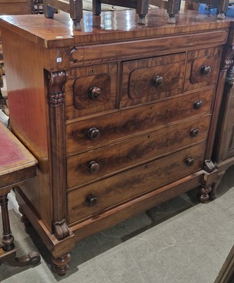
<path id="1" fill-rule="evenodd" d="M 122 107 L 182 93 L 185 53 L 124 62 Z"/>

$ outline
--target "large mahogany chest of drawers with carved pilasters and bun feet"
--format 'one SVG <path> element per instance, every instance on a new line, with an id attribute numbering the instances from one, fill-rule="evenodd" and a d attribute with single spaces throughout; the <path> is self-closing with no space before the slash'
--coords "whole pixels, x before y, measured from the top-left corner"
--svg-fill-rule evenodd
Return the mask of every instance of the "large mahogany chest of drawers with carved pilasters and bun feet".
<path id="1" fill-rule="evenodd" d="M 232 22 L 164 12 L 84 13 L 81 31 L 1 17 L 11 126 L 39 161 L 16 197 L 59 275 L 82 238 L 194 187 L 209 199 Z"/>

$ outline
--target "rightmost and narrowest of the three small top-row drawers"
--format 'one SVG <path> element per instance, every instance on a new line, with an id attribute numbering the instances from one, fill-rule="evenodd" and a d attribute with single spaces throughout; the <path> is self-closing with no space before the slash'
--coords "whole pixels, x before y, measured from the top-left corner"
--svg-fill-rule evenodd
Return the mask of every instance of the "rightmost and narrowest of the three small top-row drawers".
<path id="1" fill-rule="evenodd" d="M 220 59 L 221 47 L 188 52 L 184 91 L 214 85 Z"/>

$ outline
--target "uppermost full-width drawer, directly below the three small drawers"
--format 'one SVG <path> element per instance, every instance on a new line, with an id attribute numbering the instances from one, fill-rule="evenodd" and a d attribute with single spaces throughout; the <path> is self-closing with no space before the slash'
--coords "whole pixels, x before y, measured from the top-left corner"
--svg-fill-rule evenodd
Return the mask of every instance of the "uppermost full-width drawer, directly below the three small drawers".
<path id="1" fill-rule="evenodd" d="M 211 110 L 212 100 L 212 90 L 200 91 L 141 108 L 68 124 L 67 152 L 92 149 L 192 115 L 201 115 Z M 197 104 L 199 107 L 195 107 Z"/>

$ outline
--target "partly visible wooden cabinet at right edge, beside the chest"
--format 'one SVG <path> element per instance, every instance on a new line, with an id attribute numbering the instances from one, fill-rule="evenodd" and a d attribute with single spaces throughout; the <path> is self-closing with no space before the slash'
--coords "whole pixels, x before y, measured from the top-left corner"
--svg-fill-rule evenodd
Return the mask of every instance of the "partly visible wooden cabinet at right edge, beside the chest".
<path id="1" fill-rule="evenodd" d="M 218 168 L 218 180 L 213 184 L 211 197 L 216 197 L 216 187 L 226 170 L 234 164 L 234 75 L 233 67 L 228 70 L 223 100 L 218 117 L 218 127 L 213 148 L 213 161 Z"/>

